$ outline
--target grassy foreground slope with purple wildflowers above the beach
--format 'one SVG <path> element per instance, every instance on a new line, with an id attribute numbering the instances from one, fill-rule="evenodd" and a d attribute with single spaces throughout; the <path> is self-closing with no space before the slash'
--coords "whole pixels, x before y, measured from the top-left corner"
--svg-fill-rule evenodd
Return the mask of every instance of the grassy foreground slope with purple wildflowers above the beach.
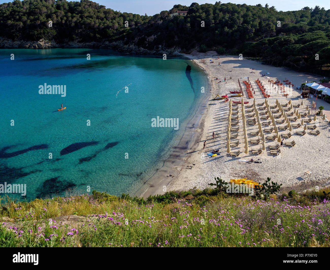
<path id="1" fill-rule="evenodd" d="M 330 190 L 1 199 L 2 247 L 329 247 Z"/>

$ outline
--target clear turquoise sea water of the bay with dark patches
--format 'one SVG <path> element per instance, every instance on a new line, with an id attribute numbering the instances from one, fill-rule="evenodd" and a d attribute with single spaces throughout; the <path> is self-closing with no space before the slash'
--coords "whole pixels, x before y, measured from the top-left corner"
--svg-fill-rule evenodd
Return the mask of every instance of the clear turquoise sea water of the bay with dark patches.
<path id="1" fill-rule="evenodd" d="M 192 61 L 110 50 L 1 49 L 0 64 L 0 184 L 26 184 L 27 199 L 87 186 L 134 192 L 179 142 L 207 87 Z M 40 95 L 45 83 L 66 85 L 66 96 Z M 179 118 L 179 129 L 152 128 L 157 116 Z"/>

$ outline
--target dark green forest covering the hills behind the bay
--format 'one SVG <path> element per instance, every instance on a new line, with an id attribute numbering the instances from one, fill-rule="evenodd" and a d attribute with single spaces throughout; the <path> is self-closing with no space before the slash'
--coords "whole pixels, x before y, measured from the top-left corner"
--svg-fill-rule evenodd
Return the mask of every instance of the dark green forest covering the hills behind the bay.
<path id="1" fill-rule="evenodd" d="M 188 13 L 171 16 L 178 10 Z M 148 16 L 114 11 L 89 0 L 15 0 L 0 5 L 0 37 L 14 41 L 122 41 L 149 51 L 216 50 L 298 70 L 328 68 L 329 23 L 330 10 L 318 6 L 282 12 L 267 4 L 192 3 Z"/>

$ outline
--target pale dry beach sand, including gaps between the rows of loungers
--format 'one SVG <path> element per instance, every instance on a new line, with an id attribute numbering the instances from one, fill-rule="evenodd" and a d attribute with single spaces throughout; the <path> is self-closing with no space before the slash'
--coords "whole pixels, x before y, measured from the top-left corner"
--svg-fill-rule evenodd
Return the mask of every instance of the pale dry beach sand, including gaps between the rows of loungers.
<path id="1" fill-rule="evenodd" d="M 216 94 L 220 96 L 224 94 L 229 94 L 230 90 L 239 90 L 238 79 L 240 79 L 241 84 L 243 80 L 247 80 L 242 77 L 249 77 L 250 83 L 255 90 L 254 97 L 257 102 L 264 101 L 257 84 L 254 80 L 259 78 L 264 85 L 269 85 L 268 79 L 261 77 L 261 74 L 269 72 L 271 80 L 276 80 L 279 78 L 281 82 L 285 79 L 289 79 L 294 84 L 293 89 L 296 86 L 300 86 L 301 83 L 307 81 L 317 81 L 320 78 L 314 77 L 312 75 L 300 74 L 295 71 L 289 71 L 285 68 L 277 68 L 272 66 L 263 65 L 260 62 L 252 60 L 239 60 L 238 57 L 231 56 L 221 56 L 220 59 L 215 59 L 217 57 L 216 52 L 207 53 L 197 53 L 196 51 L 190 55 L 186 55 L 193 61 L 195 61 L 201 68 L 205 69 L 212 80 L 212 98 L 209 101 L 208 112 L 206 113 L 203 121 L 204 130 L 202 131 L 202 138 L 197 141 L 195 145 L 187 151 L 187 159 L 184 166 L 176 167 L 180 172 L 177 177 L 173 178 L 168 186 L 168 190 L 186 190 L 189 188 L 197 187 L 199 189 L 208 188 L 208 183 L 214 182 L 214 177 L 222 177 L 225 181 L 233 178 L 248 178 L 259 182 L 263 182 L 267 177 L 270 177 L 273 181 L 282 183 L 282 187 L 299 187 L 301 190 L 309 189 L 315 185 L 322 186 L 325 184 L 330 184 L 330 123 L 324 122 L 321 116 L 317 116 L 318 127 L 316 130 L 321 132 L 320 135 L 310 135 L 304 136 L 296 135 L 297 130 L 303 130 L 300 128 L 293 128 L 291 131 L 291 138 L 285 141 L 294 140 L 296 145 L 294 147 L 281 147 L 281 155 L 273 156 L 270 154 L 268 145 L 274 145 L 277 140 L 270 141 L 266 140 L 266 150 L 262 152 L 261 155 L 254 155 L 249 152 L 249 154 L 244 153 L 244 140 L 243 140 L 243 129 L 239 130 L 239 145 L 238 148 L 232 148 L 235 151 L 241 149 L 241 154 L 239 157 L 230 157 L 226 153 L 226 142 L 227 142 L 227 124 L 228 124 L 228 106 L 229 102 L 224 102 L 223 100 L 213 100 Z M 213 57 L 212 57 L 213 56 Z M 214 63 L 210 64 L 210 59 L 213 59 Z M 218 66 L 220 62 L 221 66 Z M 250 73 L 251 69 L 254 73 Z M 232 72 L 229 72 L 232 71 Z M 229 77 L 232 76 L 230 80 Z M 227 78 L 227 83 L 217 82 L 216 77 L 221 80 L 224 77 Z M 249 104 L 253 103 L 253 99 L 248 99 L 247 93 L 245 91 L 244 84 L 242 84 L 244 91 L 244 100 L 249 101 Z M 300 91 L 294 90 L 291 96 L 292 104 L 301 103 Z M 282 94 L 271 94 L 268 99 L 270 105 L 275 105 L 276 99 L 280 101 L 281 104 L 286 103 L 289 99 L 286 99 Z M 299 99 L 299 100 L 298 100 Z M 233 98 L 233 100 L 241 100 L 241 98 Z M 315 101 L 315 97 L 312 96 L 310 99 L 303 99 L 304 105 L 299 107 L 299 112 L 307 112 L 306 105 L 312 108 L 312 101 Z M 330 110 L 330 105 L 322 100 L 317 100 L 317 107 L 324 106 L 325 110 Z M 293 110 L 292 110 L 293 111 Z M 247 107 L 245 106 L 245 113 L 247 116 Z M 313 112 L 312 112 L 313 113 Z M 261 116 L 261 115 L 260 115 Z M 314 114 L 308 115 L 307 117 L 302 117 L 302 119 L 307 119 L 311 117 L 313 119 Z M 248 118 L 248 117 L 247 117 Z M 330 119 L 330 115 L 328 115 Z M 242 119 L 241 106 L 239 105 L 239 118 Z M 282 119 L 282 118 L 280 118 Z M 261 120 L 263 121 L 263 120 Z M 301 119 L 297 120 L 295 123 L 300 122 Z M 293 122 L 291 122 L 292 124 Z M 314 121 L 311 122 L 313 124 Z M 277 124 L 279 126 L 279 124 Z M 268 127 L 268 126 L 266 126 Z M 263 129 L 265 126 L 263 126 Z M 258 126 L 250 126 L 247 124 L 248 132 L 248 147 L 260 148 L 262 144 L 250 144 L 251 131 L 257 131 Z M 212 133 L 215 132 L 215 139 L 212 138 Z M 282 131 L 279 130 L 280 134 L 287 133 L 289 130 Z M 272 135 L 274 132 L 272 133 Z M 269 133 L 265 133 L 269 135 Z M 206 140 L 206 147 L 203 150 L 203 142 Z M 235 140 L 233 140 L 235 141 Z M 207 153 L 211 152 L 212 149 L 219 149 L 220 152 L 214 158 L 211 158 Z M 253 158 L 253 160 L 258 160 L 262 162 L 261 164 L 239 162 L 240 159 L 248 160 Z M 192 167 L 192 168 L 190 168 Z M 306 170 L 312 171 L 309 178 L 307 175 L 304 176 Z"/>

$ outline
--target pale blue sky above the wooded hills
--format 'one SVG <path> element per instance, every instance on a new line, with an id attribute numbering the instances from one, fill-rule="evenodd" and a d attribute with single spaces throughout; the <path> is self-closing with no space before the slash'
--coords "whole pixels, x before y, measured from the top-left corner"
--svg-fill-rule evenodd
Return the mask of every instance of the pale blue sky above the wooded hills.
<path id="1" fill-rule="evenodd" d="M 196 2 L 198 4 L 210 3 L 214 4 L 216 1 L 207 1 L 207 0 L 125 0 L 125 1 L 112 1 L 112 0 L 93 0 L 94 2 L 104 5 L 107 8 L 121 12 L 131 12 L 140 15 L 155 15 L 160 13 L 163 10 L 170 10 L 174 5 L 181 4 L 185 6 L 190 6 L 191 3 Z M 315 7 L 320 6 L 324 7 L 326 10 L 330 9 L 329 0 L 233 0 L 233 1 L 221 1 L 221 3 L 235 3 L 235 4 L 247 4 L 247 5 L 256 5 L 261 4 L 265 6 L 268 4 L 270 7 L 275 6 L 278 11 L 293 11 L 300 10 L 304 7 Z"/>

